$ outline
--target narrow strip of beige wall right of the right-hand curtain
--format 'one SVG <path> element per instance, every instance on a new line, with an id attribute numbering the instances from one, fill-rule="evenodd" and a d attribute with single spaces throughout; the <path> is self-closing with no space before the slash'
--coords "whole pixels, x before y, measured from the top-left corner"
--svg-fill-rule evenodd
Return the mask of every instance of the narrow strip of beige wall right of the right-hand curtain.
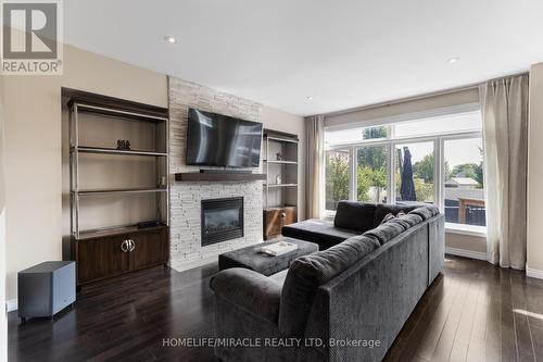
<path id="1" fill-rule="evenodd" d="M 543 273 L 543 63 L 530 68 L 527 267 Z"/>

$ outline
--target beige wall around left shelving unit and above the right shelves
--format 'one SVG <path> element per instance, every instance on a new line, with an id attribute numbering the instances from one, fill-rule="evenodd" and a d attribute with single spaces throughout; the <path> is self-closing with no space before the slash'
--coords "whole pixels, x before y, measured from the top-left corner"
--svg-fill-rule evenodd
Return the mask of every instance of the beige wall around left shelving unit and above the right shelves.
<path id="1" fill-rule="evenodd" d="M 5 77 L 7 299 L 17 271 L 62 258 L 61 87 L 167 107 L 164 74 L 70 46 L 62 76 Z M 262 121 L 303 136 L 301 117 L 264 107 Z"/>

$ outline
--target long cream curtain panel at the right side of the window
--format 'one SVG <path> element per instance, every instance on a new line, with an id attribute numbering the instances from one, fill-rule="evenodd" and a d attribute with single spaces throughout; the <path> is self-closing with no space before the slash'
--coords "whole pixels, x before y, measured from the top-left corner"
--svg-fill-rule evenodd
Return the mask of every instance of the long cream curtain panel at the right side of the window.
<path id="1" fill-rule="evenodd" d="M 528 75 L 520 75 L 480 87 L 487 257 L 518 270 L 526 265 L 528 82 Z"/>

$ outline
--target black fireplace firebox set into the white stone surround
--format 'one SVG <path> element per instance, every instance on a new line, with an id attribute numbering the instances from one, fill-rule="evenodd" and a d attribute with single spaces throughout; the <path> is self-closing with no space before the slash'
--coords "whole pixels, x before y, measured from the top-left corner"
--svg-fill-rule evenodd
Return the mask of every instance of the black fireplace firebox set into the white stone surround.
<path id="1" fill-rule="evenodd" d="M 243 236 L 243 198 L 202 200 L 202 247 Z"/>

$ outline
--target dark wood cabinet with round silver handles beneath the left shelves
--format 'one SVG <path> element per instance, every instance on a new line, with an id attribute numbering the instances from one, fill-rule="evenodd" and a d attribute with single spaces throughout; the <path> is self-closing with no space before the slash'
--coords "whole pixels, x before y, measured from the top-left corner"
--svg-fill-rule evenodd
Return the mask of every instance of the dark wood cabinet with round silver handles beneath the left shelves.
<path id="1" fill-rule="evenodd" d="M 168 239 L 167 226 L 74 239 L 77 285 L 164 264 L 169 259 Z"/>

